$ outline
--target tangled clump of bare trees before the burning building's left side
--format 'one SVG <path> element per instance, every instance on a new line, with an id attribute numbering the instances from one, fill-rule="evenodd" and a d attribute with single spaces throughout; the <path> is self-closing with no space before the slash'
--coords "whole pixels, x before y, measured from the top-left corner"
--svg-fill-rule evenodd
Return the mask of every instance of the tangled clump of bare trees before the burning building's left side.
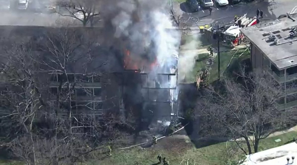
<path id="1" fill-rule="evenodd" d="M 7 145 L 28 165 L 74 164 L 93 151 L 105 150 L 107 140 L 115 142 L 119 135 L 124 135 L 116 131 L 121 123 L 116 114 L 103 114 L 99 122 L 94 120 L 94 114 L 73 111 L 78 106 L 89 111 L 101 108 L 93 106 L 96 102 L 93 92 L 81 85 L 84 78 L 76 77 L 73 82 L 69 73 L 83 75 L 90 69 L 99 72 L 107 62 L 105 56 L 97 55 L 100 44 L 96 34 L 87 30 L 79 32 L 71 28 L 49 28 L 40 38 L 32 37 L 30 41 L 15 43 L 13 48 L 1 49 L 0 69 L 6 79 L 1 98 L 7 101 L 1 119 L 9 119 L 14 130 Z M 56 93 L 48 91 L 51 74 L 58 79 Z M 91 76 L 94 79 L 102 75 Z M 74 104 L 78 88 L 94 102 Z M 87 133 L 91 129 L 92 136 Z"/>

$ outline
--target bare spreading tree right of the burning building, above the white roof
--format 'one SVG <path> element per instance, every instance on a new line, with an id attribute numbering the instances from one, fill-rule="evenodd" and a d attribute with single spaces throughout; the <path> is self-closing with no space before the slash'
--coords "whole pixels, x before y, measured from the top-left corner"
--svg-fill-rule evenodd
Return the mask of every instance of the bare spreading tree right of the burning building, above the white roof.
<path id="1" fill-rule="evenodd" d="M 236 80 L 225 77 L 222 86 L 208 89 L 195 113 L 203 121 L 205 135 L 233 139 L 245 154 L 251 154 L 252 147 L 258 151 L 261 139 L 290 122 L 291 109 L 278 106 L 283 94 L 265 72 L 247 74 L 241 69 Z M 238 139 L 245 141 L 248 152 Z"/>

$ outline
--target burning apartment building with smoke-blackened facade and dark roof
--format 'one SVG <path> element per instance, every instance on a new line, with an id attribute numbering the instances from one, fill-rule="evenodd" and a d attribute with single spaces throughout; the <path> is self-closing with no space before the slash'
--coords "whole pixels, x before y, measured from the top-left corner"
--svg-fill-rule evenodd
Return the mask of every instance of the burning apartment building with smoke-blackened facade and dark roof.
<path id="1" fill-rule="evenodd" d="M 2 43 L 18 43 L 13 41 L 16 38 L 27 41 L 30 48 L 27 47 L 26 50 L 49 63 L 53 54 L 49 53 L 49 50 L 45 51 L 44 45 L 39 44 L 45 44 L 47 47 L 49 38 L 61 33 L 61 29 L 52 27 L 1 26 L 0 29 L 3 33 Z M 132 55 L 126 45 L 121 49 L 105 45 L 104 39 L 99 39 L 102 37 L 99 28 L 63 28 L 63 30 L 75 33 L 77 38 L 74 39 L 80 38 L 80 42 L 94 41 L 88 45 L 87 51 L 84 50 L 85 47 L 75 49 L 69 57 L 69 65 L 65 67 L 67 81 L 74 88 L 71 96 L 73 115 L 91 114 L 94 116 L 93 120 L 99 120 L 104 112 L 117 111 L 121 119 L 125 120 L 128 115 L 127 110 L 134 106 L 138 111 L 138 114 L 134 115 L 139 115 L 139 122 L 146 123 L 142 124 L 143 128 L 140 129 L 146 129 L 152 123 L 169 125 L 171 116 L 178 113 L 177 55 L 168 56 L 171 57 L 166 59 L 168 65 L 160 64 L 157 59 L 135 61 L 135 58 L 129 59 Z M 95 37 L 95 40 L 88 38 L 90 36 Z M 52 66 L 57 69 L 51 68 Z M 61 82 L 65 81 L 65 75 L 58 68 L 55 64 L 40 65 L 38 73 L 43 77 L 42 84 L 50 95 L 49 101 L 52 102 L 55 102 L 56 96 L 65 89 L 61 85 Z M 4 80 L 2 86 L 5 86 L 5 77 L 2 79 Z M 69 113 L 59 112 L 59 115 L 66 117 Z"/>

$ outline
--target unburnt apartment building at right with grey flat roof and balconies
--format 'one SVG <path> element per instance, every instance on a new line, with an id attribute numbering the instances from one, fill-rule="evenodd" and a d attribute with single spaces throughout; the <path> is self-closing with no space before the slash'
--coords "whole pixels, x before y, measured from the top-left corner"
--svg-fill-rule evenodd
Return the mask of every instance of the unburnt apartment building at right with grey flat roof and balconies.
<path id="1" fill-rule="evenodd" d="M 282 85 L 282 108 L 297 105 L 297 23 L 291 15 L 241 29 L 250 41 L 253 69 L 266 69 Z"/>

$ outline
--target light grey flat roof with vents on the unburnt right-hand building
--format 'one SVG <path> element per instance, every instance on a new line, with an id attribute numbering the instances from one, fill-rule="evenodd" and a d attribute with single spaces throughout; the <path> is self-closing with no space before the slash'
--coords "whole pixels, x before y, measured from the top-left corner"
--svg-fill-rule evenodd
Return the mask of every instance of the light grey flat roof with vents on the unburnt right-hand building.
<path id="1" fill-rule="evenodd" d="M 294 15 L 291 17 L 296 19 Z M 297 65 L 297 37 L 289 38 L 290 28 L 296 25 L 296 21 L 284 17 L 242 28 L 240 31 L 281 70 Z M 279 40 L 278 44 L 269 40 L 270 32 Z"/>

